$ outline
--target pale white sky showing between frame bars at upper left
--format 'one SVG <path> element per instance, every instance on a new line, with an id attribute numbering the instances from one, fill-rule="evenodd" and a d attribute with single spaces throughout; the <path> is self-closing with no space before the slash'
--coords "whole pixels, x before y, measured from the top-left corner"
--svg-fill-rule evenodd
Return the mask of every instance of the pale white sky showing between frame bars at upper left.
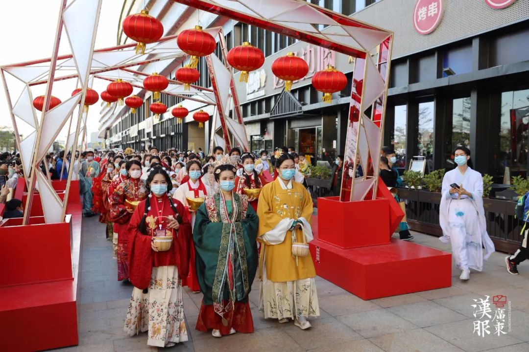
<path id="1" fill-rule="evenodd" d="M 49 58 L 51 56 L 60 3 L 60 0 L 2 1 L 3 18 L 0 22 L 0 28 L 2 33 L 8 35 L 4 35 L 2 39 L 0 65 Z M 103 0 L 95 49 L 116 45 L 117 23 L 122 6 L 123 0 Z M 31 11 L 28 11 L 28 9 L 31 9 Z M 62 36 L 61 43 L 59 54 L 69 54 L 70 47 L 66 35 Z M 62 85 L 54 84 L 52 94 L 64 101 L 71 96 L 71 92 L 76 88 L 73 86 L 74 84 L 75 82 Z M 106 84 L 106 82 L 96 80 L 93 88 L 98 93 L 101 93 L 105 90 Z M 13 103 L 15 103 L 17 98 L 12 98 L 14 100 Z M 99 99 L 99 102 L 101 102 L 101 98 Z M 99 102 L 88 112 L 88 136 L 90 133 L 98 131 Z M 0 93 L 0 111 L 0 126 L 12 128 L 10 112 L 3 89 Z M 30 131 L 31 128 L 19 127 L 19 133 L 24 137 Z M 65 134 L 59 135 L 58 139 L 61 139 L 61 137 L 65 139 Z M 90 141 L 89 137 L 88 141 Z"/>

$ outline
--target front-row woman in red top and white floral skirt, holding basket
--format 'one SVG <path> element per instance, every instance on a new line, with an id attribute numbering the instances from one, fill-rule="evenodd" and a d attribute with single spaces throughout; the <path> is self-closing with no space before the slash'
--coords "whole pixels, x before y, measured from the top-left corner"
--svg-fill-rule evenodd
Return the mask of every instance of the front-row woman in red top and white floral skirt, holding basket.
<path id="1" fill-rule="evenodd" d="M 149 196 L 138 204 L 128 225 L 134 289 L 123 329 L 130 336 L 149 331 L 147 345 L 158 347 L 188 339 L 180 278 L 188 272 L 191 224 L 182 203 L 168 193 L 172 185 L 167 172 L 161 166 L 149 169 Z M 158 247 L 156 236 L 172 237 L 167 251 Z"/>

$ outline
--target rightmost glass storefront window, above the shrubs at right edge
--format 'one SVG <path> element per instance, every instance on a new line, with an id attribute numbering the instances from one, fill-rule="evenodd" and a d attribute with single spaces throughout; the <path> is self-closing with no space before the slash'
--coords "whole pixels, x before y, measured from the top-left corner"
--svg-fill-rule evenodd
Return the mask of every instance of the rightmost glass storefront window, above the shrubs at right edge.
<path id="1" fill-rule="evenodd" d="M 496 176 L 504 182 L 527 174 L 529 89 L 501 93 L 500 155 Z"/>

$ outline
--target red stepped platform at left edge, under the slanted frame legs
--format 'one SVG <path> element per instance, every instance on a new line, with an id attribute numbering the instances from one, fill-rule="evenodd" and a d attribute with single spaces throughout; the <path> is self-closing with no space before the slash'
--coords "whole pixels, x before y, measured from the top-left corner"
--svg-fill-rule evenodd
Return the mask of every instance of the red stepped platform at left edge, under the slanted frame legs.
<path id="1" fill-rule="evenodd" d="M 78 344 L 82 205 L 70 197 L 64 223 L 41 216 L 0 226 L 2 350 L 35 351 Z"/>

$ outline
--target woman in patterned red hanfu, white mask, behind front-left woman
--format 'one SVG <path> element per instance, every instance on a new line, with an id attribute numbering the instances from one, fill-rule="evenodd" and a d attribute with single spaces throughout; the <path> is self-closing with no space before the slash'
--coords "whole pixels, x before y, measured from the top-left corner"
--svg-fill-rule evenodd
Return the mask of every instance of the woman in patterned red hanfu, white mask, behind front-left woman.
<path id="1" fill-rule="evenodd" d="M 141 163 L 130 160 L 125 164 L 129 178 L 114 189 L 110 196 L 110 220 L 117 224 L 117 280 L 129 278 L 127 245 L 129 221 L 136 206 L 145 199 L 147 190 L 141 176 Z"/>

